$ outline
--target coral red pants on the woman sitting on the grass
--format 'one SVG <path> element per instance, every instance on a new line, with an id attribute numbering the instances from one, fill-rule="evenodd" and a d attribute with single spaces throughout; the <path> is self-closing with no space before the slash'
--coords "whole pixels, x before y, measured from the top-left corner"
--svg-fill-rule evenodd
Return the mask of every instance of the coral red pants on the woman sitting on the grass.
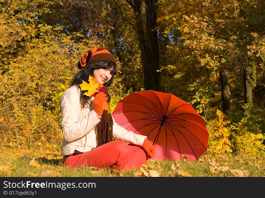
<path id="1" fill-rule="evenodd" d="M 108 168 L 114 166 L 121 171 L 139 168 L 147 161 L 147 153 L 141 146 L 123 141 L 112 141 L 91 151 L 73 154 L 65 160 L 65 165 L 74 168 L 79 165 Z"/>

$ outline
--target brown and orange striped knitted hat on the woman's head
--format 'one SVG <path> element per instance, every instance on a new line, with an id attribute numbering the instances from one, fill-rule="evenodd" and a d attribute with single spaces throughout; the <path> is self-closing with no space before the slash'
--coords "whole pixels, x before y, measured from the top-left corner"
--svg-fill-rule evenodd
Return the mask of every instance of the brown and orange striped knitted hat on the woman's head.
<path id="1" fill-rule="evenodd" d="M 86 65 L 100 61 L 111 61 L 117 64 L 116 59 L 107 49 L 104 49 L 102 47 L 96 47 L 87 51 L 78 61 L 77 66 L 79 69 L 81 69 Z"/>

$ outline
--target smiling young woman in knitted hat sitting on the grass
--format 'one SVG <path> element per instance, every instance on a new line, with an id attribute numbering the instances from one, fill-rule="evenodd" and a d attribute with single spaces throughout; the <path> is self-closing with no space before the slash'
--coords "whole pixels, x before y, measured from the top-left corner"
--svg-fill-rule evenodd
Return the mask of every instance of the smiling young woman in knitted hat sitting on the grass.
<path id="1" fill-rule="evenodd" d="M 139 168 L 154 156 L 154 146 L 146 136 L 126 130 L 111 116 L 107 90 L 116 74 L 116 64 L 107 49 L 87 51 L 77 64 L 80 72 L 61 97 L 61 155 L 70 168 L 85 165 L 127 171 Z M 83 84 L 92 83 L 89 79 L 98 83 L 96 90 L 93 86 L 83 88 Z M 113 137 L 117 140 L 113 141 Z"/>

